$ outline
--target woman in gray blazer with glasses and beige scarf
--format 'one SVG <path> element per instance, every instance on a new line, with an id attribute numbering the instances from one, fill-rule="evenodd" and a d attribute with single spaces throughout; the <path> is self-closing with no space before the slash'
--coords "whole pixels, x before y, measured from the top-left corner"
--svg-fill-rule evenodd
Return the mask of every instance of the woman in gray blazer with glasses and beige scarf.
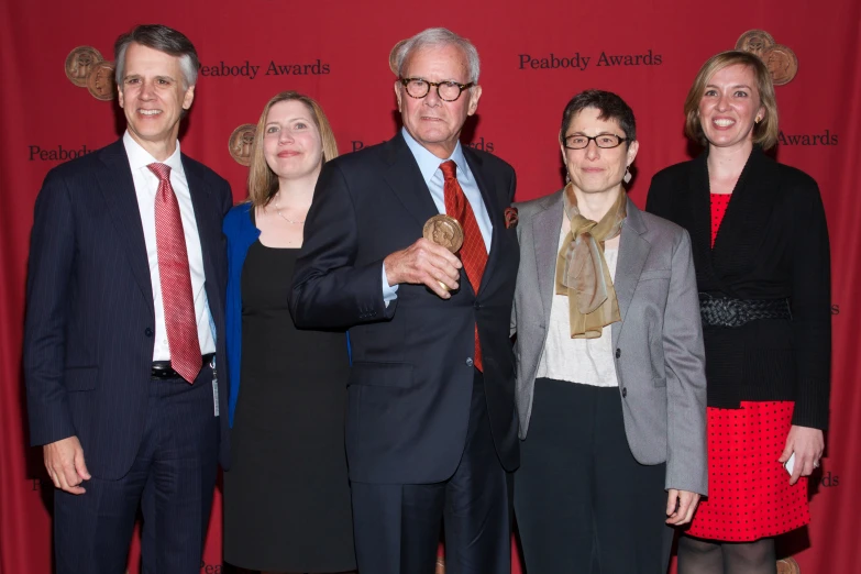
<path id="1" fill-rule="evenodd" d="M 530 574 L 665 572 L 706 494 L 706 382 L 691 240 L 622 187 L 633 112 L 565 108 L 570 183 L 519 203 L 515 509 Z"/>

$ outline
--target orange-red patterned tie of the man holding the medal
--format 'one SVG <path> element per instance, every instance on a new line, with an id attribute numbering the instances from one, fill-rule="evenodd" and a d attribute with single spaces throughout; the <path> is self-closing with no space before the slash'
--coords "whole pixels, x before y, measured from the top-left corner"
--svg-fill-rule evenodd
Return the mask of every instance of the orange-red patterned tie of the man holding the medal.
<path id="1" fill-rule="evenodd" d="M 463 195 L 461 184 L 457 183 L 457 164 L 449 159 L 440 164 L 442 176 L 445 178 L 443 191 L 445 194 L 445 213 L 453 217 L 463 225 L 463 246 L 461 247 L 461 261 L 466 277 L 473 286 L 476 297 L 478 286 L 482 285 L 482 275 L 487 265 L 487 250 L 484 246 L 482 231 L 475 221 L 473 208 Z M 478 342 L 478 324 L 475 325 L 475 368 L 484 371 L 482 365 L 482 345 Z"/>

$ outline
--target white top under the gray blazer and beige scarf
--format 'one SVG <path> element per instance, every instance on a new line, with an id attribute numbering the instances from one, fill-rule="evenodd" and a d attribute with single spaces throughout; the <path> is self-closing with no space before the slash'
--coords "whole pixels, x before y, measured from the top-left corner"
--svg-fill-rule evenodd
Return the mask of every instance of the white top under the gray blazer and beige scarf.
<path id="1" fill-rule="evenodd" d="M 559 253 L 567 236 L 567 230 L 560 231 Z M 604 251 L 604 258 L 610 272 L 610 278 L 616 280 L 616 262 L 619 250 Z M 612 357 L 612 325 L 601 329 L 598 339 L 572 339 L 571 317 L 569 314 L 569 297 L 556 295 L 553 289 L 553 301 L 550 305 L 550 325 L 544 352 L 538 363 L 538 377 L 582 383 L 596 387 L 618 387 L 616 364 Z"/>

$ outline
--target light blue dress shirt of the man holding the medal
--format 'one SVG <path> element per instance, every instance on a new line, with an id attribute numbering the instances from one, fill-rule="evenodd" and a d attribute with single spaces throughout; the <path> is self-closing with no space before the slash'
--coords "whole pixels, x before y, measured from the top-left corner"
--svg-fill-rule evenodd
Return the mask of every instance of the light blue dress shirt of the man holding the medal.
<path id="1" fill-rule="evenodd" d="M 440 165 L 448 159 L 440 159 L 429 152 L 424 146 L 412 139 L 406 128 L 401 128 L 400 133 L 404 135 L 404 140 L 407 142 L 407 147 L 409 147 L 409 151 L 412 152 L 412 156 L 416 158 L 416 163 L 419 164 L 421 177 L 428 185 L 428 189 L 431 192 L 431 198 L 433 198 L 433 203 L 437 206 L 437 211 L 440 213 L 445 213 L 445 192 L 443 190 L 445 178 L 442 175 Z M 457 183 L 461 184 L 463 195 L 466 196 L 466 200 L 473 208 L 475 221 L 478 223 L 478 231 L 482 232 L 482 239 L 484 240 L 484 246 L 489 253 L 490 239 L 493 238 L 494 227 L 493 223 L 490 223 L 490 216 L 487 214 L 487 208 L 485 207 L 484 200 L 482 199 L 482 191 L 478 189 L 478 184 L 475 181 L 475 177 L 473 177 L 470 165 L 466 163 L 466 158 L 463 156 L 463 147 L 461 146 L 461 142 L 457 142 L 457 145 L 454 147 L 454 152 L 452 152 L 452 155 L 449 157 L 449 159 L 453 161 L 457 166 Z M 386 279 L 386 264 L 384 263 L 383 299 L 386 301 L 386 307 L 388 307 L 389 301 L 393 301 L 397 298 L 397 290 L 398 286 L 389 286 L 388 279 Z"/>

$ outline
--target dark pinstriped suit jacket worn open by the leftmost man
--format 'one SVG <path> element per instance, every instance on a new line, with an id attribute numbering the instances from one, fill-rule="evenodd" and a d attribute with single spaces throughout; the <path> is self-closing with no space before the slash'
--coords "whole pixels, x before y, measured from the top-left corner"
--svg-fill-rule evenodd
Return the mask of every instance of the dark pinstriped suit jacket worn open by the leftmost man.
<path id="1" fill-rule="evenodd" d="M 228 183 L 183 155 L 195 207 L 217 368 L 227 464 L 224 352 Z M 31 443 L 77 435 L 93 476 L 119 478 L 141 443 L 152 384 L 155 311 L 143 227 L 122 140 L 52 169 L 30 245 L 24 376 Z"/>

